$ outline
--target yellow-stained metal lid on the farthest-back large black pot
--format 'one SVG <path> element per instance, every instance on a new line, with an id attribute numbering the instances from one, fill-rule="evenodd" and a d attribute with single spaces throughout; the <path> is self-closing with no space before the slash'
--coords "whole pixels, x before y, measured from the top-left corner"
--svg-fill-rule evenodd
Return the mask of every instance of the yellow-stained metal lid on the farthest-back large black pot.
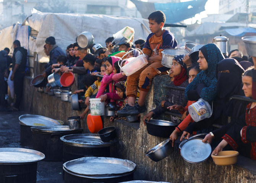
<path id="1" fill-rule="evenodd" d="M 53 126 L 60 125 L 60 123 L 52 118 L 47 118 L 40 115 L 21 115 L 19 121 L 23 125 L 28 126 Z"/>

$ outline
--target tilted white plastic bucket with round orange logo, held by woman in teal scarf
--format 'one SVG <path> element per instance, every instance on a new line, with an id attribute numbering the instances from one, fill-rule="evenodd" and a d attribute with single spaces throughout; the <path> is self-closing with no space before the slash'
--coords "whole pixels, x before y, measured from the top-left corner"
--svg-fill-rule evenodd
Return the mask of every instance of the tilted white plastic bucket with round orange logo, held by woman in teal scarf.
<path id="1" fill-rule="evenodd" d="M 199 99 L 197 102 L 188 106 L 188 112 L 195 122 L 212 116 L 212 108 L 204 99 Z"/>

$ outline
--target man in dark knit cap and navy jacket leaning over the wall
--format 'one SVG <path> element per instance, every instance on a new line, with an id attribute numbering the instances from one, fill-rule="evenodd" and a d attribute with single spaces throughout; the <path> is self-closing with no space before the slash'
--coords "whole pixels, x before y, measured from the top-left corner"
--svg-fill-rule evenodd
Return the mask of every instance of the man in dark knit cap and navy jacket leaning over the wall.
<path id="1" fill-rule="evenodd" d="M 56 45 L 55 38 L 52 36 L 46 38 L 45 47 L 49 52 L 50 56 L 49 63 L 44 66 L 45 71 L 43 73 L 43 76 L 47 77 L 52 73 L 52 64 L 57 64 L 57 57 L 60 55 L 66 56 L 66 54 L 60 47 L 58 47 L 58 45 Z"/>

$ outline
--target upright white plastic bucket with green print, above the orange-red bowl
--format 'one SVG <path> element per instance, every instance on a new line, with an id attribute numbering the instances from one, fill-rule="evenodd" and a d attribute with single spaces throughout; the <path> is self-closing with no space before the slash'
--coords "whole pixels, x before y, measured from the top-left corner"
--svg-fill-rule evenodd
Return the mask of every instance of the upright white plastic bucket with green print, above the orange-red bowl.
<path id="1" fill-rule="evenodd" d="M 103 116 L 105 114 L 105 104 L 100 102 L 100 99 L 89 99 L 91 115 L 92 116 Z"/>

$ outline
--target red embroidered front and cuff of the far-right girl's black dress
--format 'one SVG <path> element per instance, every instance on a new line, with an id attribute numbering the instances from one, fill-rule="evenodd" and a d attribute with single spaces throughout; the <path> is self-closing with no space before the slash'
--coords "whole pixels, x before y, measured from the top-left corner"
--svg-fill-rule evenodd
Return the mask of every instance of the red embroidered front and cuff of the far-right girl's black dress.
<path id="1" fill-rule="evenodd" d="M 245 123 L 246 126 L 244 126 L 242 128 L 242 141 L 243 143 L 250 143 L 247 139 L 246 139 L 246 129 L 248 126 L 254 126 L 256 127 L 256 106 L 254 106 L 253 108 L 251 108 L 251 104 L 249 103 L 247 105 L 246 108 L 246 113 L 245 113 Z M 251 109 L 250 109 L 251 108 Z M 250 114 L 248 114 L 250 110 Z M 250 157 L 251 159 L 256 160 L 256 142 L 251 142 L 251 152 L 250 152 Z"/>

